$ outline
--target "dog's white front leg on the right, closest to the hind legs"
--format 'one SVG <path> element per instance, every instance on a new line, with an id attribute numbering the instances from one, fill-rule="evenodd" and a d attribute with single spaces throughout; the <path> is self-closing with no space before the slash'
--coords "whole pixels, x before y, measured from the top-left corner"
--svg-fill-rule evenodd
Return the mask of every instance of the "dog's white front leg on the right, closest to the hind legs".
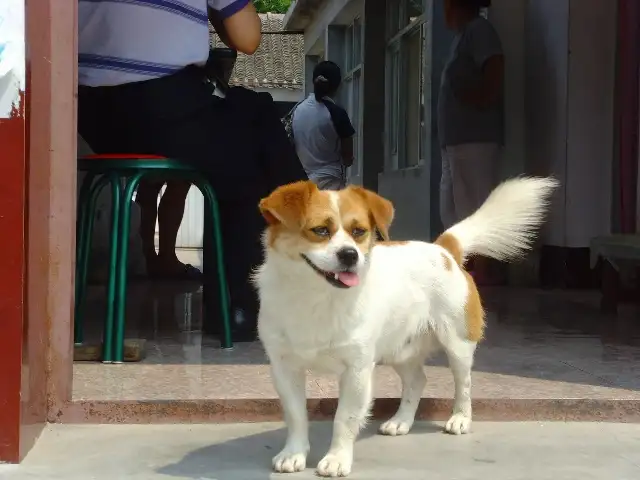
<path id="1" fill-rule="evenodd" d="M 371 405 L 373 368 L 373 362 L 366 367 L 351 366 L 342 374 L 331 447 L 318 463 L 318 475 L 346 477 L 351 473 L 353 446 Z"/>

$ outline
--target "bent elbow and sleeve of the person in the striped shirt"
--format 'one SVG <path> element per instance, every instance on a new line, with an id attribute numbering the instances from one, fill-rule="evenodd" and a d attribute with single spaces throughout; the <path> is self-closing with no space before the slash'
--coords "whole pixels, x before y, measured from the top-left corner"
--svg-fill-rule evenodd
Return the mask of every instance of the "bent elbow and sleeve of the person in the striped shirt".
<path id="1" fill-rule="evenodd" d="M 251 55 L 260 46 L 262 24 L 250 0 L 209 0 L 209 21 L 229 48 Z"/>

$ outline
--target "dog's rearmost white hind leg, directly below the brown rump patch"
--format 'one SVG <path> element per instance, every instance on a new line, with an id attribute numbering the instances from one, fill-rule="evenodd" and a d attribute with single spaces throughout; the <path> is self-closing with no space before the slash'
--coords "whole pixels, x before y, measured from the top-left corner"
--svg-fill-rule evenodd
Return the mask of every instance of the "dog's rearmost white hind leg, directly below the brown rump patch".
<path id="1" fill-rule="evenodd" d="M 476 343 L 461 339 L 452 331 L 437 335 L 447 353 L 456 389 L 453 413 L 444 429 L 447 433 L 454 435 L 469 433 L 471 430 L 471 367 Z"/>

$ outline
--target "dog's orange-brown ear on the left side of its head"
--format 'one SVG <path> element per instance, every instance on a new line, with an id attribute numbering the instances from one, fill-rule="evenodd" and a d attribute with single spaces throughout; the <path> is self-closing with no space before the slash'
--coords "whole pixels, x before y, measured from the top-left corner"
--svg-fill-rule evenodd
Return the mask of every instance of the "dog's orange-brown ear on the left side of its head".
<path id="1" fill-rule="evenodd" d="M 278 187 L 260 201 L 260 213 L 269 225 L 300 226 L 311 195 L 318 190 L 313 182 L 296 182 Z"/>

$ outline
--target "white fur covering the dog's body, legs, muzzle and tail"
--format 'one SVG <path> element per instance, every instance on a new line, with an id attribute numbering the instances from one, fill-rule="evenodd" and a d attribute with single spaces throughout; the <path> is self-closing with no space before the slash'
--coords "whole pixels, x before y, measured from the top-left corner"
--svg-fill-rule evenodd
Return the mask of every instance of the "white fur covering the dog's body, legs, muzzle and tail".
<path id="1" fill-rule="evenodd" d="M 511 258 L 531 244 L 555 185 L 552 179 L 505 182 L 474 215 L 448 232 L 459 240 L 464 255 Z M 312 260 L 322 260 L 322 268 L 331 270 L 336 249 L 345 244 L 355 245 L 340 230 L 324 250 L 315 248 Z M 354 441 L 368 416 L 377 363 L 392 365 L 402 379 L 400 407 L 380 427 L 382 434 L 403 435 L 411 429 L 426 383 L 424 361 L 438 349 L 446 352 L 455 381 L 453 413 L 445 430 L 456 435 L 470 431 L 476 343 L 467 340 L 469 287 L 462 269 L 447 268 L 454 263 L 447 251 L 424 242 L 375 246 L 366 259 L 361 253 L 361 283 L 350 289 L 331 286 L 289 253 L 267 248 L 256 274 L 259 334 L 289 432 L 284 449 L 273 459 L 276 471 L 306 467 L 308 369 L 340 376 L 331 446 L 317 466 L 321 476 L 351 472 Z"/>

